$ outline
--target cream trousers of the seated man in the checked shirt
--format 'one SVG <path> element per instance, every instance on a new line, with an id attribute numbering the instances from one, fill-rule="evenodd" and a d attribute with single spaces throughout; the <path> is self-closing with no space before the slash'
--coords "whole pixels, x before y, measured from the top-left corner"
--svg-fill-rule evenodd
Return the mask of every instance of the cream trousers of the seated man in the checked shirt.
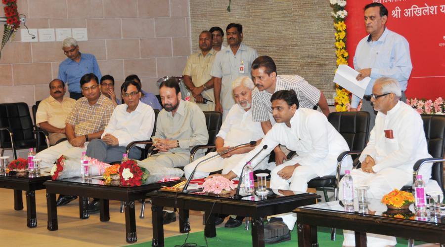
<path id="1" fill-rule="evenodd" d="M 42 168 L 52 167 L 54 162 L 57 161 L 61 155 L 64 155 L 69 159 L 80 159 L 82 152 L 87 151 L 88 144 L 89 142 L 85 142 L 85 147 L 78 148 L 71 146 L 68 141 L 62 141 L 61 143 L 51 146 L 36 154 L 36 159 L 42 160 Z"/>

